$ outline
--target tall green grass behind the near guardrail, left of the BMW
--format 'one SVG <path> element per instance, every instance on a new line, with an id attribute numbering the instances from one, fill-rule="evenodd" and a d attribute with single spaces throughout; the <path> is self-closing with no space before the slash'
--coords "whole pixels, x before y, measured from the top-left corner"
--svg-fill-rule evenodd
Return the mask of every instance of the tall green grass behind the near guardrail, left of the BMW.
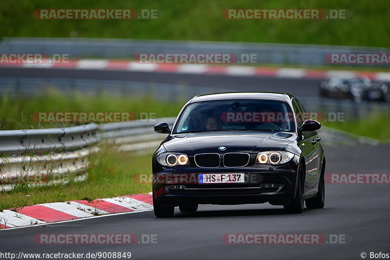
<path id="1" fill-rule="evenodd" d="M 73 93 L 65 95 L 54 89 L 42 90 L 35 97 L 14 98 L 3 95 L 0 98 L 0 130 L 36 129 L 66 127 L 80 123 L 37 122 L 36 112 L 132 112 L 156 113 L 156 117 L 176 116 L 183 102 L 169 104 L 143 96 L 110 96 Z"/>

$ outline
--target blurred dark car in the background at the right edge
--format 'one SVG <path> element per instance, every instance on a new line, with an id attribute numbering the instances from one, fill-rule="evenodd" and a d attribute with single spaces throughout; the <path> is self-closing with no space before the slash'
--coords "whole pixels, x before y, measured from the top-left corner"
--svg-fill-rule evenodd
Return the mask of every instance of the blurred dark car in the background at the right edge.
<path id="1" fill-rule="evenodd" d="M 355 101 L 388 101 L 388 86 L 384 82 L 367 77 L 333 77 L 320 82 L 320 96 L 323 98 L 352 99 Z"/>

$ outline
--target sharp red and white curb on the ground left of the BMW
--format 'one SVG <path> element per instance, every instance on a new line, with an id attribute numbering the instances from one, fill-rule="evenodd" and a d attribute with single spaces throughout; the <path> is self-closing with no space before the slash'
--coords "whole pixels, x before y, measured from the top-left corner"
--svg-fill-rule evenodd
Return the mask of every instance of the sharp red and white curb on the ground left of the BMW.
<path id="1" fill-rule="evenodd" d="M 153 209 L 152 193 L 43 203 L 0 212 L 0 230 Z"/>

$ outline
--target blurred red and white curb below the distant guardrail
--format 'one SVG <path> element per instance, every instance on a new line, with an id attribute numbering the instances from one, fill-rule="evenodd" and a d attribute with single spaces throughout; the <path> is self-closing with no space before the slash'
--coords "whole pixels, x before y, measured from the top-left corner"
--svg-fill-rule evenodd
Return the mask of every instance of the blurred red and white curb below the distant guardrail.
<path id="1" fill-rule="evenodd" d="M 138 72 L 162 72 L 198 75 L 224 75 L 232 77 L 273 77 L 292 79 L 327 79 L 333 76 L 361 77 L 371 80 L 390 81 L 390 72 L 363 72 L 348 70 L 314 70 L 298 68 L 270 68 L 245 65 L 137 63 L 125 60 L 69 60 L 45 63 L 0 63 L 0 67 L 54 68 L 84 70 L 117 70 Z"/>

